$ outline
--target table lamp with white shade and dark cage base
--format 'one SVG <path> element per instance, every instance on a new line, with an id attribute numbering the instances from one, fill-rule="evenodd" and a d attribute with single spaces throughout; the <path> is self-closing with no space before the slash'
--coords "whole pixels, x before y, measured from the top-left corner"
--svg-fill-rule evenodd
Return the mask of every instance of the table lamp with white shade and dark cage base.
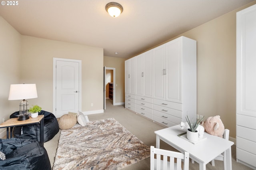
<path id="1" fill-rule="evenodd" d="M 20 102 L 20 115 L 18 121 L 29 119 L 28 101 L 25 99 L 37 98 L 36 84 L 12 84 L 8 100 L 22 100 Z"/>

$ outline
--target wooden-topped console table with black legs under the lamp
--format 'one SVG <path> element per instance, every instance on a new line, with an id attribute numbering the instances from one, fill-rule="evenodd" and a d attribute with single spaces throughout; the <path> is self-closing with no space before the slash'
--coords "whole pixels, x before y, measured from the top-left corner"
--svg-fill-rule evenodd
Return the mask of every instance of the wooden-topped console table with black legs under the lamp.
<path id="1" fill-rule="evenodd" d="M 31 125 L 35 123 L 40 123 L 40 142 L 44 146 L 44 115 L 38 115 L 36 118 L 29 118 L 25 121 L 18 121 L 17 118 L 12 118 L 4 123 L 0 124 L 0 128 L 6 128 L 6 138 L 9 138 L 9 127 L 10 127 L 10 138 L 12 138 L 12 129 L 16 126 L 22 126 L 22 125 Z"/>

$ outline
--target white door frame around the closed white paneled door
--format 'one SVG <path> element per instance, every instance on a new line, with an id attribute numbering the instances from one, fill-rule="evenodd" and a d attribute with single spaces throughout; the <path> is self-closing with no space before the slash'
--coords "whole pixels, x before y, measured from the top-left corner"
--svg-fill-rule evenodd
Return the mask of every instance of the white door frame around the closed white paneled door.
<path id="1" fill-rule="evenodd" d="M 65 58 L 53 58 L 53 86 L 52 86 L 52 113 L 56 115 L 56 63 L 57 61 L 69 61 L 69 62 L 77 62 L 79 64 L 79 103 L 78 103 L 78 108 L 79 111 L 82 109 L 82 60 L 77 60 L 77 59 L 65 59 Z"/>

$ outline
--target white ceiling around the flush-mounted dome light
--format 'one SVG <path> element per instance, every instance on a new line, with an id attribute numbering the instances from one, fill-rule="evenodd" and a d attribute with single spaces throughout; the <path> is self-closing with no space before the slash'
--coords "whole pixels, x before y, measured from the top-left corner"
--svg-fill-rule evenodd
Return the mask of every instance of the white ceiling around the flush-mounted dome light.
<path id="1" fill-rule="evenodd" d="M 5 0 L 4 0 L 5 1 Z M 0 15 L 20 34 L 104 48 L 104 55 L 132 57 L 254 0 L 18 0 Z M 118 54 L 115 54 L 118 52 Z"/>

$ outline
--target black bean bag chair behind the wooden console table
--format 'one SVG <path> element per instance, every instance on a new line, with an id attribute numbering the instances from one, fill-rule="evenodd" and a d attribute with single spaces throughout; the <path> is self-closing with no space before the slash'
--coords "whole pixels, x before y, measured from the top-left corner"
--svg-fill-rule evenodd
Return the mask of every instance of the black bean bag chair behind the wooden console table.
<path id="1" fill-rule="evenodd" d="M 18 115 L 19 111 L 12 113 L 10 118 L 16 118 Z M 41 111 L 38 115 L 44 115 L 44 142 L 47 142 L 59 132 L 58 121 L 54 114 L 47 111 Z M 13 136 L 40 141 L 40 124 L 16 126 L 13 128 Z"/>

